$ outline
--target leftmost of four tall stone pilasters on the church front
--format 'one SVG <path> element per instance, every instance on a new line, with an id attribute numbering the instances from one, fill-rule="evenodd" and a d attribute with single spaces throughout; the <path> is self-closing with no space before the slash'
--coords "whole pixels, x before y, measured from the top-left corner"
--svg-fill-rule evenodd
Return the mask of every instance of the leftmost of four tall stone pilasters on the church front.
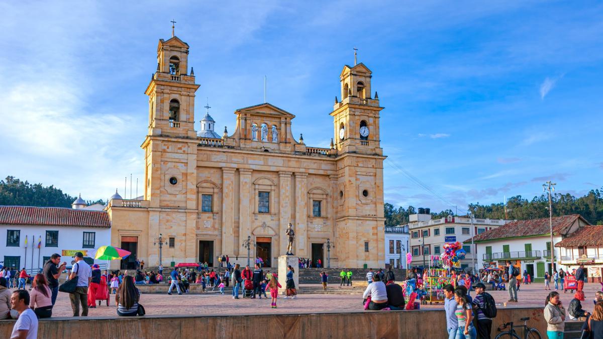
<path id="1" fill-rule="evenodd" d="M 235 255 L 235 168 L 222 168 L 222 251 Z"/>

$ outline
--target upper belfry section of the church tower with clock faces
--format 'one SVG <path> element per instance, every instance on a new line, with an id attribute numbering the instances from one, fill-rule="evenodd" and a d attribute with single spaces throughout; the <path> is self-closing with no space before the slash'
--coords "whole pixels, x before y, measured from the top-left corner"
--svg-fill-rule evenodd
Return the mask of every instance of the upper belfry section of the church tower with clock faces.
<path id="1" fill-rule="evenodd" d="M 383 154 L 379 140 L 379 97 L 371 97 L 370 69 L 363 63 L 344 66 L 339 75 L 341 101 L 335 98 L 333 127 L 338 154 Z"/>

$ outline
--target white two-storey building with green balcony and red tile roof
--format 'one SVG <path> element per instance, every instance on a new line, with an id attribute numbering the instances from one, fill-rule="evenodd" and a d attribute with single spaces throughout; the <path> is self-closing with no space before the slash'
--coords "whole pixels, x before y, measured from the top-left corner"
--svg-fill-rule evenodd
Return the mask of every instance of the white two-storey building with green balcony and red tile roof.
<path id="1" fill-rule="evenodd" d="M 553 242 L 571 237 L 590 223 L 579 214 L 552 218 Z M 549 218 L 518 220 L 497 229 L 476 235 L 479 268 L 502 267 L 511 261 L 523 274 L 527 271 L 535 281 L 542 281 L 545 272 L 551 273 L 551 227 Z M 555 247 L 555 268 L 566 270 L 559 247 Z"/>

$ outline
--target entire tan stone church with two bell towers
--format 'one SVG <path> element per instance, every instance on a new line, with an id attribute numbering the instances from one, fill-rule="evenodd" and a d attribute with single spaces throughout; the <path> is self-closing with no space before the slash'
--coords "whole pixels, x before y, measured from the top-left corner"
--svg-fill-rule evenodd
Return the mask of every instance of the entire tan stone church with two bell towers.
<path id="1" fill-rule="evenodd" d="M 157 71 L 145 92 L 144 199 L 110 200 L 112 245 L 156 266 L 161 234 L 163 265 L 218 265 L 219 255 L 245 264 L 242 243 L 250 237 L 251 257 L 274 266 L 286 253 L 284 232 L 292 223 L 296 256 L 325 266 L 329 256 L 331 267 L 382 267 L 383 107 L 376 92 L 371 97 L 371 71 L 362 63 L 344 66 L 341 100 L 329 113 L 332 147 L 318 148 L 294 138 L 295 115 L 269 103 L 236 110 L 232 135 L 225 130 L 220 137 L 209 113 L 195 131 L 200 85 L 188 55 L 178 37 L 159 40 Z"/>

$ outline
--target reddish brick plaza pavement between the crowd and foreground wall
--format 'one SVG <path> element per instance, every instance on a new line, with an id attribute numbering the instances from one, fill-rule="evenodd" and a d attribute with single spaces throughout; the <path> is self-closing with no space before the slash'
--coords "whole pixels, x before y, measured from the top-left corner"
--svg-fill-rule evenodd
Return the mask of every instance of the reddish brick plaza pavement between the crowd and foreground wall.
<path id="1" fill-rule="evenodd" d="M 319 286 L 318 284 L 316 286 Z M 339 290 L 338 285 L 329 285 L 329 290 Z M 513 308 L 517 306 L 544 307 L 545 298 L 549 291 L 543 290 L 543 284 L 522 285 L 518 293 L 518 303 L 506 303 L 507 291 L 488 291 L 499 308 Z M 344 288 L 346 289 L 346 288 Z M 167 287 L 166 287 L 167 290 Z M 595 292 L 601 290 L 601 284 L 589 283 L 584 285 L 586 300 L 582 307 L 587 311 L 593 309 L 593 298 Z M 230 294 L 142 294 L 140 303 L 145 307 L 148 315 L 219 315 L 219 314 L 279 314 L 279 313 L 317 313 L 317 312 L 341 312 L 358 311 L 362 308 L 362 292 L 364 289 L 347 288 L 349 294 L 298 294 L 295 299 L 283 299 L 279 296 L 278 308 L 270 308 L 270 293 L 268 298 L 262 299 L 232 299 Z M 561 294 L 561 301 L 567 308 L 573 293 Z M 472 292 L 475 296 L 475 292 Z M 89 310 L 90 316 L 115 316 L 115 294 L 111 295 L 110 306 L 102 302 L 101 306 Z M 506 303 L 506 305 L 505 305 Z M 441 309 L 443 304 L 421 305 L 421 309 Z M 59 293 L 57 303 L 52 309 L 53 317 L 70 317 L 72 315 L 69 296 Z"/>

